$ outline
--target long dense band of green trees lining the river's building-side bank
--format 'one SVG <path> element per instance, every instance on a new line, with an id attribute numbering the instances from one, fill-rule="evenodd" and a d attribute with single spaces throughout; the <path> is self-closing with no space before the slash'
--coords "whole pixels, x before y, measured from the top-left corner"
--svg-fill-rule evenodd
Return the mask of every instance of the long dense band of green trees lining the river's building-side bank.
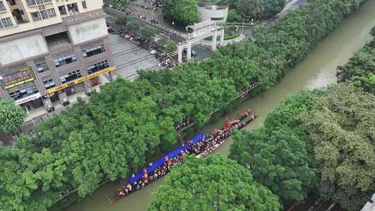
<path id="1" fill-rule="evenodd" d="M 40 124 L 35 137 L 0 146 L 0 208 L 43 211 L 63 190 L 78 189 L 84 197 L 103 180 L 128 176 L 176 144 L 174 125 L 183 119 L 206 124 L 242 87 L 256 82 L 252 94 L 258 94 L 274 85 L 360 2 L 311 1 L 258 31 L 253 44 L 232 44 L 203 62 L 102 86 L 89 103 Z"/>

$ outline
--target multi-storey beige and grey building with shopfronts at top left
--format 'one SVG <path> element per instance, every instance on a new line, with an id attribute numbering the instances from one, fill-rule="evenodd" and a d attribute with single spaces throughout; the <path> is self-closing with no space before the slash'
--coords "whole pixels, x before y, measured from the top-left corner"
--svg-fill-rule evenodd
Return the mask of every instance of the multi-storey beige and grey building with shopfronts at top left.
<path id="1" fill-rule="evenodd" d="M 0 99 L 26 108 L 90 95 L 115 74 L 101 0 L 0 0 Z"/>

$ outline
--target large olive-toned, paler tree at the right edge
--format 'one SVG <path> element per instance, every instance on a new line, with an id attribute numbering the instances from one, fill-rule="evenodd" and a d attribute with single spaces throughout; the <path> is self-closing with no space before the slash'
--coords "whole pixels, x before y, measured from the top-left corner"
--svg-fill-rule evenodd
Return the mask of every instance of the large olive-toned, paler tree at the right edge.
<path id="1" fill-rule="evenodd" d="M 302 117 L 321 196 L 360 210 L 375 192 L 375 96 L 347 83 L 333 85 Z"/>

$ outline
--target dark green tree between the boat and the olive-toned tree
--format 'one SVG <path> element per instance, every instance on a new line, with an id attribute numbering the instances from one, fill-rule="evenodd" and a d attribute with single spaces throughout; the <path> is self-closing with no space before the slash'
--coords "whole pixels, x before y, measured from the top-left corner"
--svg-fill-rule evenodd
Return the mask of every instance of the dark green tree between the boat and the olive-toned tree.
<path id="1" fill-rule="evenodd" d="M 247 167 L 254 179 L 281 199 L 302 201 L 315 178 L 303 140 L 291 130 L 254 130 L 235 136 L 229 158 Z"/>

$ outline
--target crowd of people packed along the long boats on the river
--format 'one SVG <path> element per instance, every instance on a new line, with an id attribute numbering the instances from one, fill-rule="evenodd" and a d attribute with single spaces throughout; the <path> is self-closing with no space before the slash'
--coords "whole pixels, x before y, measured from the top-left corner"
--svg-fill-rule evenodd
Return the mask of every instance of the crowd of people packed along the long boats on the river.
<path id="1" fill-rule="evenodd" d="M 149 183 L 152 183 L 154 180 L 157 180 L 160 177 L 165 176 L 170 170 L 171 167 L 174 165 L 181 165 L 183 164 L 183 157 L 185 155 L 195 155 L 197 158 L 201 158 L 203 156 L 209 155 L 219 146 L 221 146 L 227 137 L 229 137 L 232 133 L 232 128 L 241 129 L 246 126 L 246 122 L 242 122 L 243 119 L 246 117 L 250 117 L 249 121 L 253 121 L 256 118 L 255 112 L 251 112 L 251 110 L 247 110 L 240 114 L 240 119 L 236 119 L 233 121 L 226 121 L 224 124 L 224 128 L 222 130 L 216 129 L 210 135 L 205 135 L 201 142 L 197 142 L 197 144 L 193 144 L 192 140 L 188 142 L 188 148 L 185 151 L 181 151 L 179 155 L 174 158 L 168 158 L 165 156 L 165 162 L 162 166 L 157 167 L 153 172 L 148 172 L 147 167 L 144 168 L 144 174 L 141 180 L 135 181 L 133 184 L 124 185 L 121 189 L 117 189 L 117 195 L 115 200 L 122 199 L 123 197 L 131 194 L 135 190 L 138 190 Z M 249 122 L 248 121 L 248 122 Z M 189 121 L 184 121 L 185 126 L 189 124 Z M 181 125 L 183 125 L 181 123 Z M 152 166 L 152 163 L 150 164 Z M 133 177 L 135 175 L 133 174 Z M 112 203 L 113 201 L 110 200 Z"/>

